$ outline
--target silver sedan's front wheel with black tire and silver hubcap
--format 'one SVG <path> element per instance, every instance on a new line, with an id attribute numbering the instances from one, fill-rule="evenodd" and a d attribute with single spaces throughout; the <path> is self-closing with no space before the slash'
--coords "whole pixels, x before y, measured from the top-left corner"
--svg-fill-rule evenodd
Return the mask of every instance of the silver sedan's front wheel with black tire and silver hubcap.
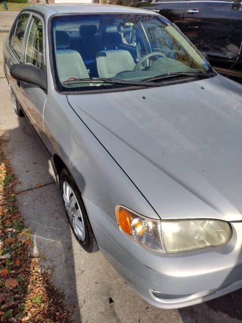
<path id="1" fill-rule="evenodd" d="M 62 170 L 60 182 L 67 217 L 75 238 L 87 252 L 98 251 L 81 193 L 66 168 Z"/>

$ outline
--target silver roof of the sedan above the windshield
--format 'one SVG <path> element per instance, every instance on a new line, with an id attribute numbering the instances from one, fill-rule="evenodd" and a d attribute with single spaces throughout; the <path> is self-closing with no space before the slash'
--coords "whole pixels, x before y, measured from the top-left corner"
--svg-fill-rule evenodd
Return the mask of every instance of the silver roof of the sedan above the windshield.
<path id="1" fill-rule="evenodd" d="M 55 5 L 32 5 L 25 7 L 22 11 L 35 11 L 43 14 L 46 18 L 52 15 L 62 14 L 100 14 L 100 13 L 122 13 L 122 14 L 152 14 L 156 13 L 144 9 L 132 7 L 102 5 L 102 4 L 55 4 Z"/>

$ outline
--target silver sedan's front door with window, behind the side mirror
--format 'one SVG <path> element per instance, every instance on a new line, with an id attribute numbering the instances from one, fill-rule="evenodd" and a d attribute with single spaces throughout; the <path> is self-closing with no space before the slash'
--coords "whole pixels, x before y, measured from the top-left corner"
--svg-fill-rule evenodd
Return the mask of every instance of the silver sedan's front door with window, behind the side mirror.
<path id="1" fill-rule="evenodd" d="M 45 61 L 44 20 L 41 16 L 33 14 L 29 22 L 28 32 L 22 60 L 24 64 L 35 66 L 46 74 Z M 43 137 L 43 109 L 47 98 L 47 91 L 39 86 L 27 82 L 19 82 L 20 104 L 35 128 L 38 135 Z"/>

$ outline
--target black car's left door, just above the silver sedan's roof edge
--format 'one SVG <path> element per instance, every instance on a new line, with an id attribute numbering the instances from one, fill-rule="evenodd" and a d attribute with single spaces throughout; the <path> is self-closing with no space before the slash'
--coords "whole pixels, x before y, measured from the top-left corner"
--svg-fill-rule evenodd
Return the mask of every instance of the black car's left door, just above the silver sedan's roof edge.
<path id="1" fill-rule="evenodd" d="M 187 8 L 187 1 L 184 0 L 153 0 L 152 2 L 141 2 L 135 7 L 140 7 L 154 12 L 175 23 L 179 28 L 183 25 L 183 15 Z"/>

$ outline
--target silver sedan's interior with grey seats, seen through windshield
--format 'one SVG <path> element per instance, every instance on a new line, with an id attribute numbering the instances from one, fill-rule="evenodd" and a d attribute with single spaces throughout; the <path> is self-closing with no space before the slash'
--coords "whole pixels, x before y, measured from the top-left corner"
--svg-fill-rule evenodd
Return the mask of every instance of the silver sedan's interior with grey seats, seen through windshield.
<path id="1" fill-rule="evenodd" d="M 151 26 L 147 40 L 139 29 L 133 23 L 115 24 L 101 19 L 59 23 L 54 34 L 60 82 L 93 77 L 141 80 L 153 76 L 156 70 L 159 74 L 192 71 L 184 58 L 178 58 L 186 56 L 185 52 L 169 47 L 169 43 L 159 43 L 163 38 L 172 43 L 167 32 L 166 38 L 160 37 L 161 28 Z M 144 59 L 152 52 L 152 57 Z"/>

